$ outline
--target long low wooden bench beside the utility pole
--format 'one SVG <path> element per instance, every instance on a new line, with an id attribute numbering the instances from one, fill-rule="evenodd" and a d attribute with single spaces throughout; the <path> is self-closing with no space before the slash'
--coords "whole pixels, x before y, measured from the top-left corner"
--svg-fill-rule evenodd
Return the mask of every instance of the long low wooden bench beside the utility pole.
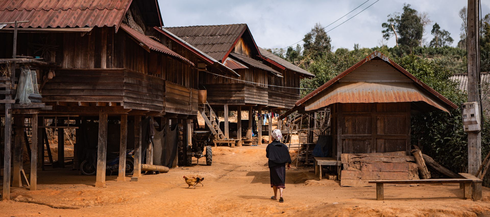
<path id="1" fill-rule="evenodd" d="M 461 179 L 414 179 L 414 180 L 371 180 L 368 183 L 376 184 L 376 199 L 384 200 L 384 184 L 445 184 L 459 183 L 463 185 L 463 198 L 481 200 L 482 180 L 468 173 L 459 173 Z"/>

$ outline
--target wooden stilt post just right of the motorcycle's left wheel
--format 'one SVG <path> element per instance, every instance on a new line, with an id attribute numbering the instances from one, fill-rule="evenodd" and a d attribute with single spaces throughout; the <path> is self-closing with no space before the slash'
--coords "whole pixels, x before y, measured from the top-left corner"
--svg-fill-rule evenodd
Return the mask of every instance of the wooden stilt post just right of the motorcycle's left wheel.
<path id="1" fill-rule="evenodd" d="M 63 130 L 63 128 L 60 128 Z M 62 131 L 58 131 L 58 135 Z M 105 187 L 105 165 L 107 154 L 107 113 L 98 115 L 97 173 L 95 187 Z M 58 160 L 59 161 L 59 160 Z"/>

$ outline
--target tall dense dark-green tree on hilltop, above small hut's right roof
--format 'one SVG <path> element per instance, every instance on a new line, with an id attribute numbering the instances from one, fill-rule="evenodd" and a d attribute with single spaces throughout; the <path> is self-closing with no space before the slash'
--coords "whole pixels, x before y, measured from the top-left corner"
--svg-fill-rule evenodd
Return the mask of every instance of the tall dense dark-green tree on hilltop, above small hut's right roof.
<path id="1" fill-rule="evenodd" d="M 422 39 L 423 24 L 417 15 L 417 10 L 410 8 L 410 4 L 403 6 L 398 31 L 400 33 L 398 43 L 412 52 L 413 48 L 416 48 Z"/>

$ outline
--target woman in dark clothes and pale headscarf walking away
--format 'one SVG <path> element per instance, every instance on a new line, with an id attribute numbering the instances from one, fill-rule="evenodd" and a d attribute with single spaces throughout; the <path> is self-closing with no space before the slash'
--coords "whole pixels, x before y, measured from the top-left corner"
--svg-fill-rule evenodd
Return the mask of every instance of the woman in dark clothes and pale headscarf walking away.
<path id="1" fill-rule="evenodd" d="M 286 188 L 284 186 L 286 181 L 286 163 L 288 169 L 291 169 L 291 156 L 289 155 L 288 147 L 282 144 L 281 130 L 275 129 L 272 131 L 273 141 L 267 145 L 266 156 L 269 158 L 269 170 L 270 170 L 270 187 L 274 190 L 274 196 L 270 199 L 277 200 L 277 189 L 279 189 L 279 202 L 284 202 L 282 192 Z"/>

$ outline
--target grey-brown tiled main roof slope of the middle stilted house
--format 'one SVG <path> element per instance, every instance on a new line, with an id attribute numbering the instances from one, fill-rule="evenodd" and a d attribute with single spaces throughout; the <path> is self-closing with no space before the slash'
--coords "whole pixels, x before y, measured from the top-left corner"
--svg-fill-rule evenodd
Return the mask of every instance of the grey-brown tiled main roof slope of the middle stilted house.
<path id="1" fill-rule="evenodd" d="M 221 61 L 246 29 L 246 24 L 166 27 L 172 34 Z"/>

